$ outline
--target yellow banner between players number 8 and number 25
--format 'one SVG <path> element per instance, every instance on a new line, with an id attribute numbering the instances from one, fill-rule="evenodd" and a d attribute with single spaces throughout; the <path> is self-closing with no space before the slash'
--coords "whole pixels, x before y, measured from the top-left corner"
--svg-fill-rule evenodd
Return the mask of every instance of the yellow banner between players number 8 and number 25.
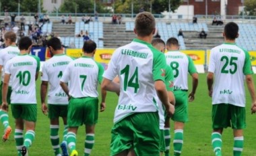
<path id="1" fill-rule="evenodd" d="M 184 54 L 190 56 L 197 65 L 205 64 L 205 51 L 204 50 L 181 50 Z"/>

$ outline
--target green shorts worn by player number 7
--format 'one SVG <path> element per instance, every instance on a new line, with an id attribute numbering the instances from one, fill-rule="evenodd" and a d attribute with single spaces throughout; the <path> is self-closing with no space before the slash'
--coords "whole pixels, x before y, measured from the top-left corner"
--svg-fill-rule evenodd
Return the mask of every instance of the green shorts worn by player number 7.
<path id="1" fill-rule="evenodd" d="M 98 98 L 71 98 L 67 109 L 67 127 L 95 125 L 98 122 Z"/>

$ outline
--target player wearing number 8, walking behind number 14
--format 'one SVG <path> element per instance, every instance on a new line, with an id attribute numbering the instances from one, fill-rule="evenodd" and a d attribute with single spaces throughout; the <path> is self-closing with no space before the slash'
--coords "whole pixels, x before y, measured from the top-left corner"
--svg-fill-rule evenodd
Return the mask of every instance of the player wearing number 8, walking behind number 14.
<path id="1" fill-rule="evenodd" d="M 198 84 L 198 74 L 193 64 L 193 60 L 179 52 L 179 42 L 176 38 L 170 37 L 166 42 L 166 49 L 168 52 L 165 54 L 167 64 L 172 68 L 174 74 L 174 97 L 175 97 L 175 112 L 172 116 L 174 121 L 174 156 L 181 155 L 183 147 L 183 129 L 185 123 L 188 121 L 187 91 L 189 89 L 187 84 L 188 72 L 193 78 L 192 91 L 189 93 L 189 101 L 195 98 L 195 91 Z M 166 145 L 167 146 L 167 145 Z M 168 155 L 168 151 L 166 151 Z"/>

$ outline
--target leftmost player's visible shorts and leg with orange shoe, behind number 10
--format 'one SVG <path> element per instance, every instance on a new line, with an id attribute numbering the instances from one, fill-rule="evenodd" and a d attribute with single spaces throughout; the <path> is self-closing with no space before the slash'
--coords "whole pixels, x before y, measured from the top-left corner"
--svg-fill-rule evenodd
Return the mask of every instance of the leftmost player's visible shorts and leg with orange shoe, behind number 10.
<path id="1" fill-rule="evenodd" d="M 2 85 L 3 85 L 3 82 L 1 82 L 0 84 L 0 93 L 2 92 Z M 11 97 L 11 87 L 8 88 L 8 92 L 7 92 L 8 104 L 10 104 L 11 102 L 10 97 Z M 0 94 L 0 102 L 2 104 L 2 94 Z M 9 138 L 9 135 L 11 134 L 11 127 L 9 126 L 9 115 L 7 112 L 1 109 L 1 104 L 0 104 L 0 120 L 4 127 L 4 133 L 3 133 L 2 139 L 3 141 L 7 141 L 7 139 Z"/>

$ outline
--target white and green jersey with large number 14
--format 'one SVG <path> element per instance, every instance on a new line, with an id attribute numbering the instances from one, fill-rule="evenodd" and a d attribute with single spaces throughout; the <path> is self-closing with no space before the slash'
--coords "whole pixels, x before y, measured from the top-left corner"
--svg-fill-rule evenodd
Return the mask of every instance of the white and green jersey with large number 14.
<path id="1" fill-rule="evenodd" d="M 135 112 L 156 112 L 158 103 L 154 81 L 164 81 L 164 54 L 151 44 L 134 39 L 115 50 L 103 77 L 120 79 L 120 95 L 114 123 Z"/>

